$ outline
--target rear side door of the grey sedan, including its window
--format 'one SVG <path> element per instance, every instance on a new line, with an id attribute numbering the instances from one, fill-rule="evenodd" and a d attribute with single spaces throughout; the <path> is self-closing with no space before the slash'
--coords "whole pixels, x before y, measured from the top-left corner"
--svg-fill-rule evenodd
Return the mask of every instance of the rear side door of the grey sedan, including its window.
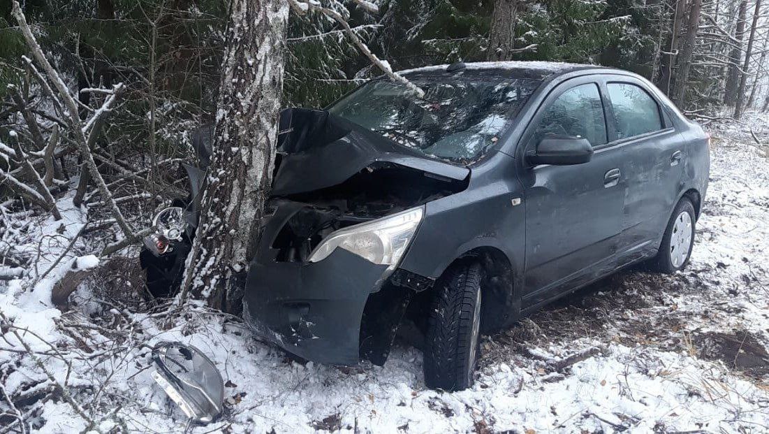
<path id="1" fill-rule="evenodd" d="M 656 251 L 681 189 L 685 147 L 647 83 L 624 75 L 604 82 L 609 128 L 624 152 L 620 252 L 633 262 Z"/>

